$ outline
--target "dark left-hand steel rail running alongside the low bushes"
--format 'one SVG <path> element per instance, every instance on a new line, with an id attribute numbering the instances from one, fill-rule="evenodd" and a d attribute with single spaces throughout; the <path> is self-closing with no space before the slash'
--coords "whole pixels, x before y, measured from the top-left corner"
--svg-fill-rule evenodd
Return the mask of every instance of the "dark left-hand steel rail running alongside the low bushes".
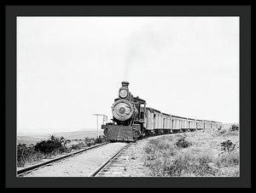
<path id="1" fill-rule="evenodd" d="M 56 162 L 56 161 L 59 161 L 59 160 L 61 160 L 61 159 L 67 158 L 67 157 L 69 157 L 69 156 L 73 156 L 73 155 L 79 154 L 79 153 L 81 153 L 81 152 L 83 152 L 83 151 L 91 150 L 91 149 L 94 149 L 94 148 L 96 148 L 96 147 L 99 147 L 99 146 L 102 146 L 102 145 L 106 145 L 106 144 L 109 144 L 109 143 L 110 143 L 110 142 L 105 142 L 105 143 L 102 143 L 102 144 L 99 144 L 99 145 L 94 145 L 94 146 L 85 148 L 85 149 L 83 149 L 83 150 L 78 150 L 78 151 L 69 153 L 69 154 L 67 154 L 67 155 L 65 155 L 65 156 L 60 156 L 60 157 L 51 159 L 51 160 L 46 161 L 46 162 L 38 163 L 38 164 L 33 165 L 33 166 L 30 166 L 30 167 L 24 167 L 24 168 L 18 170 L 18 171 L 17 171 L 17 174 L 20 175 L 20 174 L 22 174 L 22 173 L 29 172 L 29 171 L 31 171 L 32 169 L 35 169 L 35 168 L 38 168 L 38 167 L 42 167 L 42 166 L 47 165 L 47 164 L 49 164 L 49 163 L 51 163 L 51 162 Z"/>

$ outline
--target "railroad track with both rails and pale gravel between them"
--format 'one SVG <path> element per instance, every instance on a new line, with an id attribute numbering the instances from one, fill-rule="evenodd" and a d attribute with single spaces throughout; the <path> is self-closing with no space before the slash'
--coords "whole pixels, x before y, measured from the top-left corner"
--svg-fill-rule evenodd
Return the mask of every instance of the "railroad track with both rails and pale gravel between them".
<path id="1" fill-rule="evenodd" d="M 139 141 L 139 140 L 138 140 Z M 57 157 L 31 167 L 17 171 L 17 176 L 24 177 L 100 177 L 124 176 L 125 167 L 132 159 L 131 145 L 136 143 L 103 143 L 84 150 Z M 105 145 L 105 146 L 104 146 Z M 109 146 L 110 145 L 110 146 Z M 102 147 L 101 147 L 102 146 Z M 97 148 L 101 147 L 101 148 Z M 87 150 L 85 154 L 81 154 Z M 97 152 L 96 152 L 97 151 Z M 73 156 L 79 154 L 78 156 Z M 82 157 L 81 157 L 82 156 Z M 69 158 L 73 159 L 72 161 Z M 79 160 L 75 161 L 74 159 Z M 59 162 L 58 162 L 59 161 Z M 62 162 L 64 161 L 64 162 Z M 96 168 L 96 169 L 95 169 Z"/>

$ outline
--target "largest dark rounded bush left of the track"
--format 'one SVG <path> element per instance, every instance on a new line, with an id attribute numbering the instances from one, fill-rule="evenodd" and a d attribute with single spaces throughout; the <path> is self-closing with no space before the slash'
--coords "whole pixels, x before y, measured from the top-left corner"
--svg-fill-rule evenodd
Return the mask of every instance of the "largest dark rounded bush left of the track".
<path id="1" fill-rule="evenodd" d="M 67 139 L 56 138 L 54 135 L 50 136 L 48 140 L 43 140 L 38 142 L 35 145 L 35 150 L 40 151 L 44 154 L 49 154 L 53 151 L 57 152 L 66 152 L 68 151 L 67 145 Z"/>

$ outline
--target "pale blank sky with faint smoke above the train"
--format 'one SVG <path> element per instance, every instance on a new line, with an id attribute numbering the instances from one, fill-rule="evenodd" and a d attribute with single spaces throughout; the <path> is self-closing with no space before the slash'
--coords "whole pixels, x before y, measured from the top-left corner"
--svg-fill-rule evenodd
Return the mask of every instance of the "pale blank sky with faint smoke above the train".
<path id="1" fill-rule="evenodd" d="M 18 133 L 94 130 L 123 81 L 167 114 L 239 122 L 239 17 L 17 17 Z"/>

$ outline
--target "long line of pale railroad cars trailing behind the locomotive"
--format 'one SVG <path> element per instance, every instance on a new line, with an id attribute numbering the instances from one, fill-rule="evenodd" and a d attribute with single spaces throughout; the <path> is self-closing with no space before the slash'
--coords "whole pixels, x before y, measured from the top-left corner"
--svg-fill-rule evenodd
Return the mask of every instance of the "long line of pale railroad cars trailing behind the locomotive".
<path id="1" fill-rule="evenodd" d="M 147 133 L 172 133 L 195 129 L 218 129 L 221 122 L 212 122 L 207 120 L 196 120 L 182 116 L 173 116 L 153 108 L 146 108 L 145 123 Z"/>

